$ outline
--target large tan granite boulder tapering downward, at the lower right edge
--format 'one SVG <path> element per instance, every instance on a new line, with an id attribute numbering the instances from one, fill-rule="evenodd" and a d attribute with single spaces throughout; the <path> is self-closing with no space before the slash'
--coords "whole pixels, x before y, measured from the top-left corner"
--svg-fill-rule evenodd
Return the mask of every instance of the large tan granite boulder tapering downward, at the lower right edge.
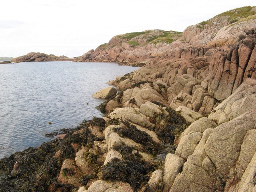
<path id="1" fill-rule="evenodd" d="M 225 178 L 230 167 L 238 160 L 244 136 L 256 127 L 256 110 L 250 110 L 239 117 L 216 127 L 204 148 L 216 169 Z"/>

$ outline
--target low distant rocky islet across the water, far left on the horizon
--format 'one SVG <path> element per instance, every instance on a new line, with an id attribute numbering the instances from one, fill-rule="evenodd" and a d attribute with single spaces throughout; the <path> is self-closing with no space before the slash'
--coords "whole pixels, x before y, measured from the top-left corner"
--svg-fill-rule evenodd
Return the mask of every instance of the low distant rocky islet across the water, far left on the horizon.
<path id="1" fill-rule="evenodd" d="M 44 53 L 35 53 L 31 52 L 24 56 L 20 56 L 11 60 L 11 62 L 39 62 L 39 61 L 72 61 L 73 58 L 68 58 L 66 56 L 55 56 L 55 55 L 47 55 Z"/>

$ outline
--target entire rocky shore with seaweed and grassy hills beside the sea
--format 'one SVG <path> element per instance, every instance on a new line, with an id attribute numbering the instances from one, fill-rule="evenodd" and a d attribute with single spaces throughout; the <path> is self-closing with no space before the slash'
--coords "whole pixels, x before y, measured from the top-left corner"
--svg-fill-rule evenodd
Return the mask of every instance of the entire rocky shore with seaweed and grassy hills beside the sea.
<path id="1" fill-rule="evenodd" d="M 256 7 L 74 61 L 142 67 L 93 95 L 103 118 L 0 160 L 0 192 L 256 192 Z"/>

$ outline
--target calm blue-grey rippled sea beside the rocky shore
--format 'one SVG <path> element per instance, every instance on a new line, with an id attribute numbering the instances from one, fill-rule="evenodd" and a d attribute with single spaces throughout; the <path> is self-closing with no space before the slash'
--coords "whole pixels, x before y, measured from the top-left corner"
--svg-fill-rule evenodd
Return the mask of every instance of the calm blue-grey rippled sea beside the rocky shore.
<path id="1" fill-rule="evenodd" d="M 114 63 L 1 64 L 0 158 L 40 146 L 49 140 L 46 132 L 102 116 L 95 107 L 104 100 L 92 94 L 137 69 Z"/>

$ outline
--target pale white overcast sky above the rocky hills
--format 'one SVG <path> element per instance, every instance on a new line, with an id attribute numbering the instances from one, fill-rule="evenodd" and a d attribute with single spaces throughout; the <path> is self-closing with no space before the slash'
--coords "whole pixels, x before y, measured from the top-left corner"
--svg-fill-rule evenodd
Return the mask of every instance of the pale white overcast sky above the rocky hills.
<path id="1" fill-rule="evenodd" d="M 256 6 L 256 0 L 4 0 L 0 57 L 29 52 L 81 56 L 118 34 L 182 32 L 242 6 Z"/>

